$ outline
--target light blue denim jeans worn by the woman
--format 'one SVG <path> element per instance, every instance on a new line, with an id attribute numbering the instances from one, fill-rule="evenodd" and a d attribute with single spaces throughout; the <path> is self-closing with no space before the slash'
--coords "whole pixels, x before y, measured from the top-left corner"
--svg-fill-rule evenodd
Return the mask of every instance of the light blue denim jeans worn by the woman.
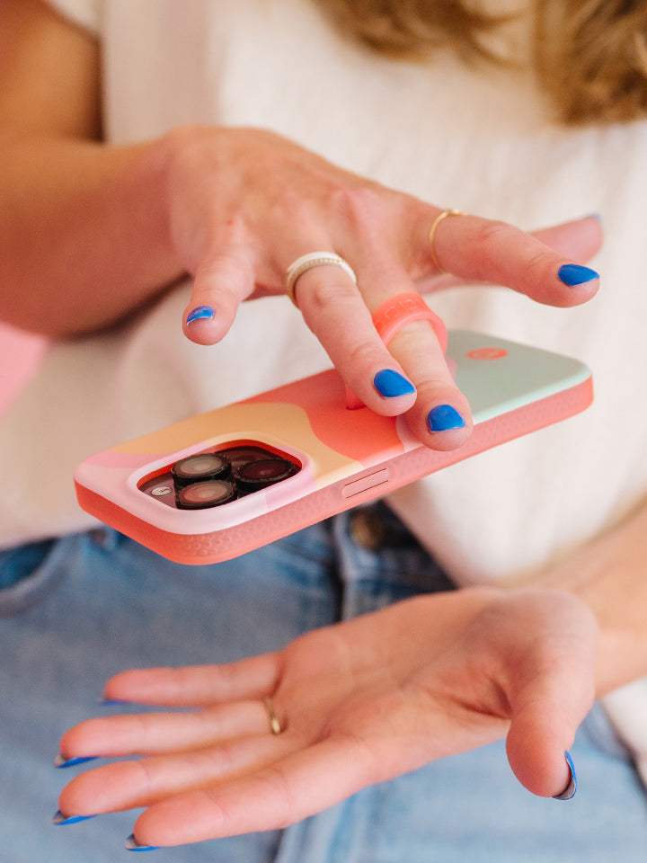
<path id="1" fill-rule="evenodd" d="M 420 592 L 453 588 L 381 504 L 226 564 L 174 565 L 110 529 L 0 554 L 0 859 L 113 863 L 133 813 L 51 826 L 58 738 L 112 673 L 226 662 Z M 638 863 L 647 805 L 596 707 L 569 802 L 527 793 L 502 743 L 370 787 L 283 832 L 157 850 L 160 863 Z"/>

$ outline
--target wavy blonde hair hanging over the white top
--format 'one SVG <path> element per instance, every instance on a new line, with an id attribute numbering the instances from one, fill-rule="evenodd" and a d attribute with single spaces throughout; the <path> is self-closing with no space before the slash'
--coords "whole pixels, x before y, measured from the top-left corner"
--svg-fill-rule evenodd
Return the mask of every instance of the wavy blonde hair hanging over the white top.
<path id="1" fill-rule="evenodd" d="M 478 0 L 316 0 L 341 31 L 394 58 L 440 47 L 465 61 L 507 63 L 492 35 L 510 15 Z M 535 0 L 528 59 L 560 120 L 625 122 L 647 115 L 647 3 Z"/>

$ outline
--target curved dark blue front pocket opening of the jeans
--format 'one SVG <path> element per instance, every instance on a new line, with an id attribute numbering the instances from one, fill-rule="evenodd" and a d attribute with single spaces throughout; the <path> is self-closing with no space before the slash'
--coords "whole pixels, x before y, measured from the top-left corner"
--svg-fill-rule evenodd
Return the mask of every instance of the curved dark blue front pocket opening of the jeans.
<path id="1" fill-rule="evenodd" d="M 0 618 L 22 614 L 43 601 L 63 578 L 58 546 L 45 539 L 0 552 Z"/>

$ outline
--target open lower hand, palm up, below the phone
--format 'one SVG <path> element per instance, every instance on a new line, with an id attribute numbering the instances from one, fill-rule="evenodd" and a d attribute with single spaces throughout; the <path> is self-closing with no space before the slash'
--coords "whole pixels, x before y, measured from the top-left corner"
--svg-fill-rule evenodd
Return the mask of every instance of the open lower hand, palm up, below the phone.
<path id="1" fill-rule="evenodd" d="M 506 734 L 519 781 L 556 796 L 571 780 L 564 752 L 593 699 L 597 639 L 589 609 L 569 593 L 469 588 L 230 665 L 122 672 L 105 698 L 195 709 L 68 731 L 67 760 L 143 757 L 77 776 L 60 812 L 144 806 L 135 836 L 154 847 L 277 829 Z"/>

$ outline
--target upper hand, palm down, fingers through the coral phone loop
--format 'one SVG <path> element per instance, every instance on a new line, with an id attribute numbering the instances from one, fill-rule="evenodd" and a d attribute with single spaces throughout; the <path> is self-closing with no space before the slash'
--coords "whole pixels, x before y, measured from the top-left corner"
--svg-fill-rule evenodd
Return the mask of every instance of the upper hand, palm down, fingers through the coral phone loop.
<path id="1" fill-rule="evenodd" d="M 465 442 L 469 405 L 429 323 L 407 325 L 387 349 L 371 321 L 377 307 L 398 294 L 456 283 L 504 285 L 558 307 L 583 303 L 598 288 L 597 273 L 573 262 L 597 250 L 596 218 L 533 236 L 453 216 L 438 223 L 432 249 L 440 208 L 270 132 L 188 127 L 174 129 L 164 144 L 169 236 L 193 277 L 187 337 L 220 341 L 242 301 L 284 290 L 286 271 L 301 255 L 338 254 L 357 284 L 338 266 L 317 266 L 298 278 L 297 306 L 350 390 L 378 414 L 406 412 L 413 433 L 432 449 Z M 380 393 L 385 371 L 394 381 L 389 395 Z"/>

